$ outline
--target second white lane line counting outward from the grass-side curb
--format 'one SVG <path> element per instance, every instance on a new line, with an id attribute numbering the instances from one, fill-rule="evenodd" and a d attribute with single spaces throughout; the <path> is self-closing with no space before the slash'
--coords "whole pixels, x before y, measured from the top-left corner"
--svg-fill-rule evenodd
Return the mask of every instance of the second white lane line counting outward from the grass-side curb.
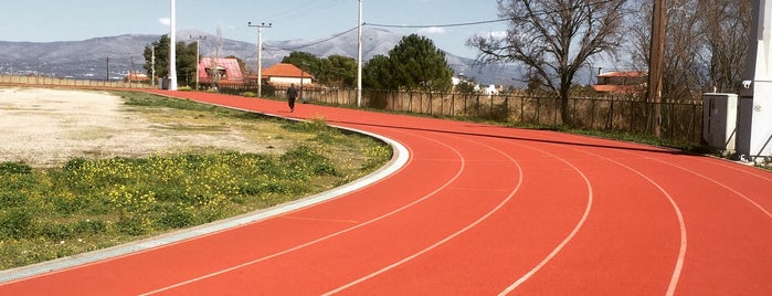
<path id="1" fill-rule="evenodd" d="M 463 139 L 463 138 L 461 138 L 461 139 Z M 467 140 L 467 139 L 463 139 L 463 140 L 469 141 L 469 140 Z M 427 246 L 426 249 L 421 250 L 421 251 L 419 251 L 419 252 L 416 252 L 416 253 L 414 253 L 414 254 L 412 254 L 412 255 L 410 255 L 410 256 L 406 256 L 406 257 L 404 257 L 404 258 L 402 258 L 402 260 L 400 260 L 400 261 L 398 261 L 398 262 L 394 262 L 393 264 L 391 264 L 391 265 L 389 265 L 389 266 L 385 266 L 385 267 L 383 267 L 383 268 L 381 268 L 381 269 L 379 269 L 379 271 L 377 271 L 377 272 L 374 272 L 374 273 L 371 273 L 371 274 L 369 274 L 369 275 L 362 276 L 362 277 L 360 277 L 360 278 L 358 278 L 358 279 L 355 279 L 355 281 L 352 281 L 352 282 L 346 284 L 346 285 L 342 285 L 342 286 L 340 286 L 340 287 L 338 287 L 338 288 L 336 288 L 336 289 L 329 290 L 329 292 L 327 292 L 327 293 L 325 293 L 325 294 L 321 294 L 321 295 L 327 296 L 327 295 L 332 295 L 332 294 L 336 294 L 336 293 L 340 293 L 340 292 L 342 292 L 342 290 L 345 290 L 345 289 L 347 289 L 347 288 L 350 288 L 350 287 L 352 287 L 352 286 L 355 286 L 355 285 L 358 285 L 358 284 L 360 284 L 360 283 L 363 283 L 363 282 L 366 282 L 366 281 L 368 281 L 368 279 L 370 279 L 370 278 L 373 278 L 373 277 L 376 277 L 376 276 L 378 276 L 378 275 L 381 275 L 381 274 L 383 274 L 383 273 L 385 273 L 385 272 L 389 272 L 389 271 L 391 271 L 391 269 L 393 269 L 393 268 L 395 268 L 395 267 L 398 267 L 398 266 L 400 266 L 400 265 L 402 265 L 402 264 L 404 264 L 404 263 L 406 263 L 406 262 L 409 262 L 409 261 L 412 261 L 412 260 L 414 260 L 414 258 L 416 258 L 416 257 L 419 257 L 419 256 L 421 256 L 421 255 L 423 255 L 423 254 L 425 254 L 425 253 L 427 253 L 427 252 L 430 252 L 430 251 L 432 251 L 432 250 L 434 250 L 434 249 L 436 249 L 436 247 L 438 247 L 438 246 L 441 246 L 441 245 L 447 243 L 448 241 L 455 239 L 456 236 L 458 236 L 458 235 L 461 235 L 461 234 L 467 232 L 468 230 L 470 230 L 470 229 L 477 226 L 477 225 L 478 225 L 479 223 L 482 223 L 483 221 L 487 220 L 490 215 L 493 215 L 494 213 L 498 212 L 498 210 L 500 210 L 501 208 L 504 208 L 504 205 L 506 205 L 506 204 L 515 197 L 515 193 L 516 193 L 517 191 L 519 191 L 520 186 L 522 184 L 522 168 L 520 167 L 520 165 L 518 163 L 518 161 L 515 160 L 514 158 L 511 158 L 509 155 L 505 154 L 504 151 L 501 151 L 501 150 L 499 150 L 499 149 L 496 149 L 496 148 L 494 148 L 494 147 L 491 147 L 491 146 L 489 146 L 489 145 L 484 145 L 484 144 L 475 142 L 475 141 L 470 141 L 470 142 L 477 144 L 477 145 L 480 145 L 480 146 L 484 146 L 484 147 L 487 147 L 487 148 L 489 148 L 490 150 L 494 150 L 494 151 L 496 151 L 496 152 L 498 152 L 498 154 L 500 154 L 500 155 L 507 157 L 512 163 L 515 163 L 515 166 L 517 167 L 517 170 L 518 170 L 518 181 L 517 181 L 517 186 L 515 186 L 515 188 L 510 190 L 509 195 L 507 195 L 507 198 L 505 198 L 501 202 L 499 202 L 498 205 L 496 205 L 494 209 L 491 209 L 490 211 L 488 211 L 486 214 L 484 214 L 483 216 L 480 216 L 480 218 L 477 219 L 476 221 L 474 221 L 474 222 L 472 222 L 470 224 L 464 226 L 463 229 L 456 231 L 455 233 L 453 233 L 453 234 L 451 234 L 451 235 L 448 235 L 448 236 L 445 236 L 444 239 L 442 239 L 442 240 L 437 241 L 436 243 L 434 243 L 434 244 Z M 463 157 L 462 157 L 462 158 L 463 158 Z"/>

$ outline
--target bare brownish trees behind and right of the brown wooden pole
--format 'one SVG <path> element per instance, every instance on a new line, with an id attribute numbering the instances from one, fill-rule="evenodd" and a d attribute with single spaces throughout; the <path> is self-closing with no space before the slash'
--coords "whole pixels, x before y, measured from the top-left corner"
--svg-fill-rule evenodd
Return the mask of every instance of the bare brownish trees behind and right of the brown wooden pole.
<path id="1" fill-rule="evenodd" d="M 704 92 L 737 92 L 744 65 L 750 0 L 667 1 L 663 98 L 698 99 Z M 652 1 L 635 0 L 631 59 L 635 68 L 648 64 Z"/>

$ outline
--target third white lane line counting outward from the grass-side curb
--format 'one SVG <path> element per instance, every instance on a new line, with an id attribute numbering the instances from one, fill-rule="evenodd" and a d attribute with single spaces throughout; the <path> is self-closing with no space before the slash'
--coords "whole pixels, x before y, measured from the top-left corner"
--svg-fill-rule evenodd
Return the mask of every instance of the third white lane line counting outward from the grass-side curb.
<path id="1" fill-rule="evenodd" d="M 560 252 L 563 250 L 563 247 L 564 247 L 569 242 L 571 242 L 571 240 L 573 240 L 574 236 L 577 236 L 577 233 L 579 233 L 579 230 L 582 229 L 582 226 L 584 225 L 584 222 L 588 220 L 588 216 L 590 216 L 590 211 L 592 210 L 592 203 L 593 203 L 593 190 L 592 190 L 592 184 L 590 183 L 590 179 L 588 179 L 588 177 L 582 172 L 582 170 L 580 170 L 579 168 L 577 168 L 577 167 L 575 167 L 573 163 L 571 163 L 570 161 L 568 161 L 568 160 L 565 160 L 565 159 L 563 159 L 563 158 L 558 157 L 557 155 L 547 152 L 547 151 L 541 150 L 541 149 L 538 149 L 538 148 L 528 147 L 528 146 L 525 146 L 525 145 L 521 145 L 521 144 L 518 144 L 518 145 L 520 145 L 520 146 L 522 146 L 522 147 L 525 147 L 525 148 L 528 148 L 528 149 L 541 151 L 542 154 L 549 155 L 549 156 L 551 156 L 551 157 L 553 157 L 553 158 L 556 158 L 556 159 L 558 159 L 558 160 L 564 162 L 564 163 L 568 165 L 569 167 L 573 168 L 573 170 L 577 171 L 577 173 L 579 173 L 579 176 L 581 176 L 582 179 L 584 179 L 584 184 L 586 186 L 586 190 L 588 190 L 588 203 L 586 203 L 586 205 L 585 205 L 585 208 L 584 208 L 584 213 L 582 214 L 582 218 L 579 220 L 579 222 L 577 222 L 577 225 L 573 228 L 573 230 L 571 231 L 571 233 L 569 233 L 569 235 L 565 236 L 565 239 L 563 239 L 563 241 L 560 242 L 560 244 L 558 244 L 558 246 L 556 246 L 554 250 L 552 250 L 552 252 L 550 252 L 550 254 L 547 255 L 547 257 L 544 257 L 541 262 L 539 262 L 539 264 L 537 264 L 536 266 L 533 266 L 533 268 L 531 268 L 530 271 L 528 271 L 528 273 L 526 273 L 526 274 L 522 275 L 520 278 L 518 278 L 517 281 L 515 281 L 515 283 L 512 283 L 511 285 L 509 285 L 507 288 L 505 288 L 504 290 L 501 290 L 501 292 L 498 294 L 499 296 L 501 296 L 501 295 L 507 295 L 507 294 L 511 293 L 512 290 L 515 290 L 518 286 L 520 286 L 522 283 L 525 283 L 525 282 L 528 281 L 529 278 L 531 278 L 531 276 L 533 276 L 537 272 L 539 272 L 542 267 L 544 267 L 544 265 L 547 265 L 556 255 L 558 255 L 558 253 L 560 253 Z"/>

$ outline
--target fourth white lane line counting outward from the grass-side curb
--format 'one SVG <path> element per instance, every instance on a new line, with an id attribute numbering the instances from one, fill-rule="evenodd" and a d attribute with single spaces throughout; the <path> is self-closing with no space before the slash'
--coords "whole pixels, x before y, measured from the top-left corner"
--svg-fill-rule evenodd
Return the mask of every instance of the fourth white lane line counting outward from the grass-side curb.
<path id="1" fill-rule="evenodd" d="M 667 286 L 667 293 L 665 294 L 665 295 L 667 295 L 667 296 L 673 296 L 673 295 L 676 293 L 676 287 L 678 286 L 678 281 L 680 279 L 681 271 L 684 269 L 684 261 L 685 261 L 685 258 L 686 258 L 686 246 L 687 246 L 686 222 L 685 222 L 685 220 L 684 220 L 684 214 L 683 214 L 683 212 L 680 211 L 680 207 L 678 207 L 678 203 L 676 202 L 676 200 L 673 199 L 673 197 L 671 197 L 669 193 L 667 193 L 667 190 L 665 190 L 662 186 L 659 186 L 659 183 L 657 183 L 656 181 L 652 180 L 652 178 L 648 178 L 648 177 L 647 177 L 646 175 L 644 175 L 643 172 L 641 172 L 641 171 L 638 171 L 638 170 L 636 170 L 636 169 L 634 169 L 634 168 L 632 168 L 632 167 L 630 167 L 630 166 L 627 166 L 627 165 L 624 165 L 624 163 L 618 162 L 618 161 L 616 161 L 616 160 L 613 160 L 613 159 L 611 159 L 611 158 L 607 158 L 607 157 L 604 157 L 604 156 L 601 156 L 601 155 L 596 155 L 596 154 L 593 154 L 593 152 L 590 152 L 590 151 L 579 150 L 579 149 L 575 149 L 575 148 L 572 148 L 572 149 L 574 149 L 574 150 L 577 150 L 577 151 L 584 152 L 584 154 L 589 154 L 589 155 L 592 155 L 592 156 L 595 156 L 595 157 L 599 157 L 599 158 L 602 158 L 602 159 L 605 159 L 605 160 L 607 160 L 607 161 L 611 161 L 611 162 L 613 162 L 613 163 L 616 163 L 617 166 L 621 166 L 621 167 L 623 167 L 623 168 L 625 168 L 625 169 L 628 169 L 630 171 L 632 171 L 632 172 L 634 172 L 634 173 L 641 176 L 642 178 L 646 179 L 646 181 L 648 181 L 648 182 L 652 183 L 654 187 L 656 187 L 657 190 L 659 190 L 660 192 L 663 192 L 663 194 L 665 194 L 665 197 L 667 198 L 667 200 L 670 202 L 670 207 L 673 207 L 673 210 L 675 211 L 676 216 L 678 218 L 678 228 L 679 228 L 679 234 L 680 234 L 680 244 L 679 244 L 679 249 L 678 249 L 678 258 L 676 260 L 676 266 L 673 268 L 673 274 L 670 275 L 670 283 L 668 284 L 668 286 Z M 626 151 L 622 151 L 622 152 L 626 152 Z M 635 155 L 635 156 L 639 156 L 639 157 L 644 157 L 644 158 L 648 158 L 648 157 L 641 156 L 641 155 L 637 155 L 637 154 L 632 154 L 632 152 L 626 152 L 626 154 Z M 648 158 L 648 159 L 653 159 L 653 158 Z M 654 159 L 654 160 L 656 160 L 656 159 Z"/>

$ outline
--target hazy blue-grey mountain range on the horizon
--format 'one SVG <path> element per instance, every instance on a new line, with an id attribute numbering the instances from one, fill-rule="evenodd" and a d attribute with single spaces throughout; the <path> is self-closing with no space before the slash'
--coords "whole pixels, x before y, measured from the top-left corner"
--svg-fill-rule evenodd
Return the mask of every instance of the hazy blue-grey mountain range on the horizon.
<path id="1" fill-rule="evenodd" d="M 388 54 L 402 39 L 402 34 L 382 29 L 364 28 L 362 33 L 362 59 L 367 62 L 378 54 Z M 197 30 L 178 32 L 178 41 L 193 42 L 202 38 L 200 52 L 205 56 L 234 55 L 247 64 L 257 66 L 257 45 L 243 41 L 222 39 L 216 52 L 218 38 Z M 120 80 L 130 71 L 144 72 L 145 46 L 156 42 L 160 35 L 127 34 L 95 38 L 84 41 L 62 42 L 3 42 L 0 41 L 0 74 L 46 75 L 55 77 Z M 336 38 L 317 41 L 289 40 L 264 41 L 263 66 L 278 63 L 294 51 L 326 57 L 329 55 L 357 56 L 357 31 Z M 511 80 L 518 75 L 514 66 L 479 66 L 470 59 L 446 52 L 448 65 L 456 75 L 464 74 L 482 84 L 517 85 Z"/>

